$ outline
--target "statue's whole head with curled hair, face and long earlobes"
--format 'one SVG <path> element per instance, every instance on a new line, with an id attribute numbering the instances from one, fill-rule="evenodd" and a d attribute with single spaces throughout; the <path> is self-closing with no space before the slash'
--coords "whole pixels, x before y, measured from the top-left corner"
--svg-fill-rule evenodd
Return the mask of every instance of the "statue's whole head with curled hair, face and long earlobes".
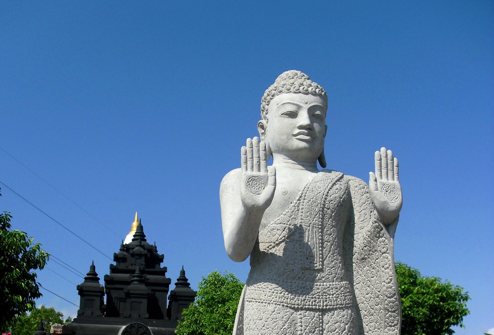
<path id="1" fill-rule="evenodd" d="M 293 160 L 316 161 L 326 167 L 324 138 L 328 97 L 307 74 L 280 74 L 261 99 L 257 130 L 270 152 Z"/>

